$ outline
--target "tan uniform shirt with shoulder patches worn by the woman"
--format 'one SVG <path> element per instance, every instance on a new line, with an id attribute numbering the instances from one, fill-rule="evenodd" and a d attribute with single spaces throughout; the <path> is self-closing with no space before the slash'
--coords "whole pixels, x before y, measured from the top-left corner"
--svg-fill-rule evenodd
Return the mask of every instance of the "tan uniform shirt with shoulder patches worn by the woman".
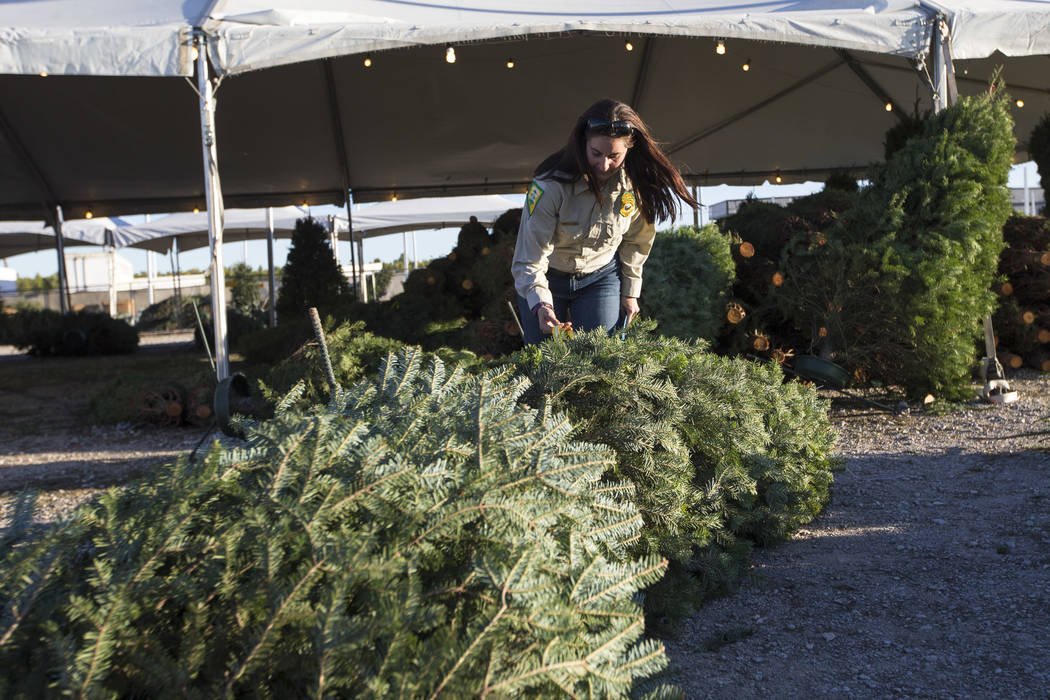
<path id="1" fill-rule="evenodd" d="M 594 272 L 620 251 L 621 295 L 642 294 L 642 266 L 652 250 L 656 230 L 642 216 L 624 169 L 602 190 L 601 205 L 582 177 L 575 183 L 538 178 L 525 195 L 510 271 L 514 289 L 529 309 L 553 303 L 547 270 L 570 274 Z"/>

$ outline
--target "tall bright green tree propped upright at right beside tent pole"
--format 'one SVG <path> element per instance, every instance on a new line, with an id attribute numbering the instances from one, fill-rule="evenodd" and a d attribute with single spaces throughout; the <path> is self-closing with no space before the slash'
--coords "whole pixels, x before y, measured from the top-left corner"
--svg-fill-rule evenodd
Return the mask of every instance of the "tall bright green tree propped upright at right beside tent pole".
<path id="1" fill-rule="evenodd" d="M 981 320 L 995 306 L 1013 146 L 1000 88 L 926 120 L 872 167 L 826 246 L 796 241 L 785 253 L 785 315 L 802 332 L 823 328 L 821 352 L 855 376 L 911 397 L 970 398 Z"/>

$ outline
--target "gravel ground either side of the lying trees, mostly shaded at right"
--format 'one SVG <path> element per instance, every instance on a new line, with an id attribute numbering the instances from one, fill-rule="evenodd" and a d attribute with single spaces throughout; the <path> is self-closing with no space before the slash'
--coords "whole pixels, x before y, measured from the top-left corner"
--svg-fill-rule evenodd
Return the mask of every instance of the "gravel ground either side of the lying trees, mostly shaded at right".
<path id="1" fill-rule="evenodd" d="M 824 513 L 665 640 L 687 697 L 1050 697 L 1050 377 L 1011 385 L 1015 404 L 944 416 L 833 407 Z M 54 519 L 204 437 L 0 434 L 0 526 L 19 489 Z"/>

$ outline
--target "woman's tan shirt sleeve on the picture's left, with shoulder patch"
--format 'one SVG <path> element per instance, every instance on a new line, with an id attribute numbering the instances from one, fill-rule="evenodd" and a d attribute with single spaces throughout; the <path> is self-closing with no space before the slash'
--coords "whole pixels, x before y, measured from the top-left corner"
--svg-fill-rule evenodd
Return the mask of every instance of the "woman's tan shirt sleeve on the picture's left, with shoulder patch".
<path id="1" fill-rule="evenodd" d="M 554 250 L 561 188 L 558 183 L 549 181 L 538 184 L 544 192 L 531 213 L 527 204 L 522 211 L 518 241 L 514 243 L 514 258 L 510 263 L 514 290 L 524 297 L 529 309 L 541 302 L 554 303 L 547 285 L 547 268 L 550 254 Z"/>

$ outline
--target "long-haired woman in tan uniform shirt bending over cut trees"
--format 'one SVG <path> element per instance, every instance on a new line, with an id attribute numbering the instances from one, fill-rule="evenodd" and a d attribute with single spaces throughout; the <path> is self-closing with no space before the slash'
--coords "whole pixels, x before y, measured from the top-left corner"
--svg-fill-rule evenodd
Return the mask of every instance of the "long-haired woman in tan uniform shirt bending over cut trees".
<path id="1" fill-rule="evenodd" d="M 674 220 L 676 195 L 697 206 L 681 175 L 633 109 L 601 100 L 534 177 L 510 268 L 525 342 L 556 328 L 629 323 L 638 313 L 653 224 Z"/>

